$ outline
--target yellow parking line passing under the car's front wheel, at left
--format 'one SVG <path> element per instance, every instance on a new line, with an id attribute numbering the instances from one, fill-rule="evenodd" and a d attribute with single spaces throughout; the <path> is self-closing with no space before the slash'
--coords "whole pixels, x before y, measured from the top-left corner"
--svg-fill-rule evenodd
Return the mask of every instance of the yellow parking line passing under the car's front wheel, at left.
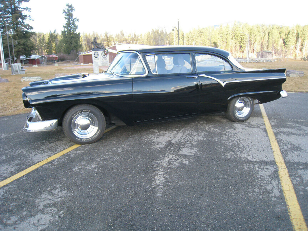
<path id="1" fill-rule="evenodd" d="M 112 129 L 115 128 L 115 127 L 116 127 L 116 126 L 112 126 L 112 127 L 110 127 L 110 128 L 107 128 L 107 129 L 104 131 L 104 133 L 109 132 L 110 130 L 112 130 Z M 75 145 L 73 145 L 73 146 L 71 146 L 71 147 L 69 147 L 69 148 L 63 150 L 62 152 L 59 152 L 59 153 L 57 153 L 57 154 L 55 154 L 55 155 L 53 155 L 53 156 L 51 156 L 51 157 L 48 157 L 48 158 L 45 159 L 45 160 L 42 160 L 41 162 L 39 162 L 39 163 L 37 163 L 37 164 L 32 165 L 31 167 L 29 167 L 29 168 L 27 168 L 27 169 L 25 169 L 25 170 L 23 170 L 23 171 L 21 171 L 21 172 L 18 172 L 17 174 L 15 174 L 14 176 L 11 176 L 11 177 L 7 178 L 6 180 L 2 180 L 2 181 L 0 182 L 0 188 L 1 188 L 2 186 L 6 185 L 6 184 L 8 184 L 8 183 L 10 183 L 10 182 L 12 182 L 13 180 L 16 180 L 16 179 L 18 179 L 19 177 L 22 177 L 22 176 L 26 175 L 27 173 L 29 173 L 29 172 L 31 172 L 31 171 L 33 171 L 33 170 L 35 170 L 35 169 L 41 167 L 42 165 L 47 164 L 47 163 L 50 162 L 51 160 L 55 160 L 56 158 L 58 158 L 58 157 L 60 157 L 60 156 L 62 156 L 62 155 L 64 155 L 64 154 L 66 154 L 67 152 L 71 152 L 72 150 L 74 150 L 75 148 L 78 148 L 79 146 L 81 146 L 81 144 L 75 144 Z"/>

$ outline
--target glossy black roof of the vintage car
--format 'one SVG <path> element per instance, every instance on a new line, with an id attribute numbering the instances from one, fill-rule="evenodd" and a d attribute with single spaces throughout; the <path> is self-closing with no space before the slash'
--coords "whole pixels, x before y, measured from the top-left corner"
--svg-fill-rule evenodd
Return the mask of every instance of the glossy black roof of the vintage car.
<path id="1" fill-rule="evenodd" d="M 148 52 L 167 52 L 167 51 L 201 51 L 201 52 L 211 52 L 222 55 L 226 58 L 229 57 L 230 52 L 221 50 L 215 47 L 202 47 L 202 46 L 153 46 L 139 49 L 128 49 L 124 51 L 137 51 L 139 53 L 148 53 Z M 123 52 L 123 51 L 120 51 Z"/>

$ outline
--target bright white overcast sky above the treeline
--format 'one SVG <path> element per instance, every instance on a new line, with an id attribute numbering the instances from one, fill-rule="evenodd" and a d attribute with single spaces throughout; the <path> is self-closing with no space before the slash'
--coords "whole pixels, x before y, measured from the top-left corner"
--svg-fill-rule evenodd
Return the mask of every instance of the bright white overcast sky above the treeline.
<path id="1" fill-rule="evenodd" d="M 290 2 L 288 4 L 284 2 Z M 35 32 L 61 33 L 65 23 L 62 13 L 67 1 L 30 0 L 22 6 L 31 8 Z M 104 34 L 144 34 L 155 28 L 172 30 L 177 27 L 187 33 L 193 28 L 214 26 L 234 21 L 248 24 L 307 25 L 307 0 L 117 0 L 81 1 L 70 0 L 75 8 L 73 16 L 79 19 L 77 32 Z M 291 4 L 292 3 L 292 4 Z"/>

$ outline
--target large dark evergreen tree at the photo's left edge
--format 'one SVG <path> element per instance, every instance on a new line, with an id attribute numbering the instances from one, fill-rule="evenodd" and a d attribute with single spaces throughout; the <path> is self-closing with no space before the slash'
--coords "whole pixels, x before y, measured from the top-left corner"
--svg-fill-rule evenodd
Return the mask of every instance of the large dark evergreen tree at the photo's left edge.
<path id="1" fill-rule="evenodd" d="M 26 12 L 30 12 L 30 9 L 21 7 L 23 2 L 29 2 L 29 0 L 0 0 L 0 30 L 2 35 L 6 34 L 5 25 L 7 25 L 9 36 L 12 36 L 13 39 L 17 62 L 20 61 L 20 55 L 29 56 L 35 49 L 34 43 L 30 39 L 34 34 L 34 32 L 30 32 L 33 27 L 25 22 L 26 19 L 31 19 L 30 15 L 26 14 Z M 2 42 L 4 55 L 9 57 L 6 36 L 2 36 Z M 11 39 L 9 43 L 11 43 Z M 11 55 L 13 54 L 11 53 Z"/>

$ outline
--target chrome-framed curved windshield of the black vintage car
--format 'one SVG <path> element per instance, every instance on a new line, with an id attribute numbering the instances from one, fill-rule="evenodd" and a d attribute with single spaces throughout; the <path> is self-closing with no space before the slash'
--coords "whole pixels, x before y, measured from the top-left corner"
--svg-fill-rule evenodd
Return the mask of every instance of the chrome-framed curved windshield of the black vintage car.
<path id="1" fill-rule="evenodd" d="M 145 68 L 137 53 L 123 52 L 115 57 L 107 72 L 117 75 L 144 75 Z"/>

